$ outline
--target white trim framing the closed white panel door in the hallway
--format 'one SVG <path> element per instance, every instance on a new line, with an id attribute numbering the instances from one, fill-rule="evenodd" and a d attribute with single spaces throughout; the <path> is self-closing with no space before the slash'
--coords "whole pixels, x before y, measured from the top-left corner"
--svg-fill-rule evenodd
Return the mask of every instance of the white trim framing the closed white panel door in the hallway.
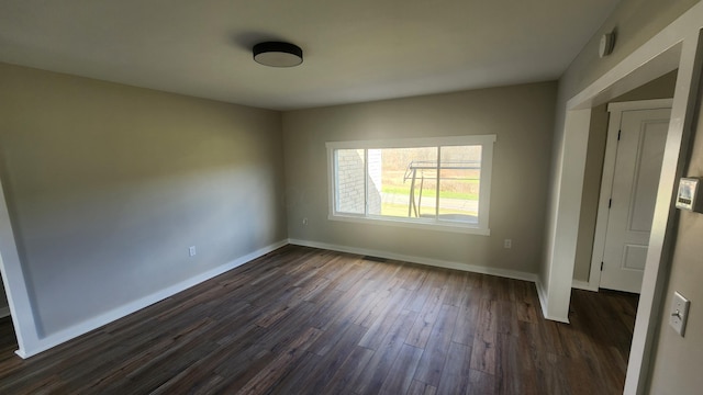
<path id="1" fill-rule="evenodd" d="M 615 159 L 617 158 L 617 135 L 620 132 L 620 124 L 623 119 L 623 112 L 671 109 L 671 105 L 673 105 L 673 99 L 637 100 L 607 104 L 610 120 L 607 122 L 607 137 L 605 143 L 605 157 L 603 159 L 601 193 L 598 200 L 598 214 L 595 217 L 595 235 L 593 237 L 591 272 L 589 274 L 588 282 L 588 289 L 591 291 L 598 291 L 601 284 L 601 263 L 603 262 L 603 253 L 605 251 L 605 236 L 607 233 L 607 221 L 610 215 L 609 200 L 613 192 Z"/>

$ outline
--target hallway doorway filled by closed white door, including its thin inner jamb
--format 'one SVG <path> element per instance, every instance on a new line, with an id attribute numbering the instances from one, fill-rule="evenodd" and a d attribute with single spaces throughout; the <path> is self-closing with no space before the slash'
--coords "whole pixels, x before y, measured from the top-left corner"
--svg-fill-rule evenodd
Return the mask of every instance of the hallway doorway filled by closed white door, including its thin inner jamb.
<path id="1" fill-rule="evenodd" d="M 591 259 L 595 289 L 640 293 L 671 100 L 611 103 Z"/>

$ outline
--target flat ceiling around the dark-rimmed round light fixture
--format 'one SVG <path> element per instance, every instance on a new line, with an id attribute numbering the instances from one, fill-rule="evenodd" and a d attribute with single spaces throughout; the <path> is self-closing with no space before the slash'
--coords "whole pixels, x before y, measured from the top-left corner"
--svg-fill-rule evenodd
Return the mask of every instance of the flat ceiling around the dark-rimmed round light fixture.
<path id="1" fill-rule="evenodd" d="M 2 0 L 0 61 L 289 110 L 555 80 L 618 0 Z M 303 48 L 295 68 L 257 42 Z"/>

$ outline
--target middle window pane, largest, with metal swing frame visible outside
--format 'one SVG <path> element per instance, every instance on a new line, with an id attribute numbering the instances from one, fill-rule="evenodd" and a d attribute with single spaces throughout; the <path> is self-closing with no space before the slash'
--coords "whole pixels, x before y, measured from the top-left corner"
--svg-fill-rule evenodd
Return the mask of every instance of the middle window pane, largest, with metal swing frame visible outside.
<path id="1" fill-rule="evenodd" d="M 372 156 L 380 159 L 380 182 L 369 184 L 369 202 L 377 192 L 381 205 L 375 212 L 369 203 L 369 214 L 405 218 L 436 215 L 437 147 L 369 149 L 369 178 L 375 180 L 378 168 L 371 166 Z"/>

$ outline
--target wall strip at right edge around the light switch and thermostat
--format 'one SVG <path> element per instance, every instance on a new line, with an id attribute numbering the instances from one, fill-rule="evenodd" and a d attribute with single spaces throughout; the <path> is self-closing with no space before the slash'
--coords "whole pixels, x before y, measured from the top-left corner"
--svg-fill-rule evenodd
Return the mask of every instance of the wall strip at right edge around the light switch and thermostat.
<path id="1" fill-rule="evenodd" d="M 684 177 L 703 177 L 703 87 L 699 88 L 698 124 Z M 700 196 L 699 196 L 700 198 Z M 703 214 L 678 211 L 676 244 L 651 373 L 652 394 L 693 394 L 703 387 Z M 669 327 L 674 291 L 691 301 L 685 336 Z"/>

